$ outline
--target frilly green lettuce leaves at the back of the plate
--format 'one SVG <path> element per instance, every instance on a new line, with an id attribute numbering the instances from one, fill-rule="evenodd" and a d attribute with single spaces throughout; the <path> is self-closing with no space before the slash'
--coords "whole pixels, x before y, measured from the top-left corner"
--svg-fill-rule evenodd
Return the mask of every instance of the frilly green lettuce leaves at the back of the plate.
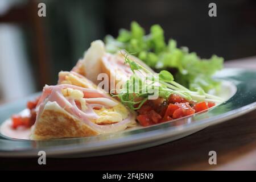
<path id="1" fill-rule="evenodd" d="M 117 38 L 105 37 L 106 50 L 115 53 L 120 49 L 135 52 L 135 56 L 156 70 L 177 69 L 175 80 L 195 91 L 199 88 L 208 92 L 218 90 L 220 82 L 213 80 L 213 74 L 222 68 L 223 58 L 213 55 L 210 59 L 201 59 L 187 47 L 177 48 L 175 40 L 168 43 L 164 31 L 158 24 L 151 26 L 150 34 L 137 22 L 131 22 L 131 30 L 121 29 Z"/>

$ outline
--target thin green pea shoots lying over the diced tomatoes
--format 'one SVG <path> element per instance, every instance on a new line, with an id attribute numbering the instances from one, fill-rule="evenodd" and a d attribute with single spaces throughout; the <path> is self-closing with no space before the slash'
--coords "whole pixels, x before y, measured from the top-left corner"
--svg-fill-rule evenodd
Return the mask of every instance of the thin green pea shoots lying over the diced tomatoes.
<path id="1" fill-rule="evenodd" d="M 222 98 L 205 93 L 203 89 L 191 91 L 178 84 L 168 71 L 160 71 L 159 74 L 152 73 L 141 64 L 130 60 L 127 52 L 123 56 L 125 57 L 125 64 L 130 65 L 133 75 L 126 81 L 117 97 L 130 109 L 140 109 L 144 102 L 148 100 L 149 96 L 152 96 L 156 92 L 159 97 L 165 99 L 168 99 L 170 94 L 178 94 L 188 101 L 222 102 Z M 142 75 L 139 75 L 139 73 L 142 73 Z"/>

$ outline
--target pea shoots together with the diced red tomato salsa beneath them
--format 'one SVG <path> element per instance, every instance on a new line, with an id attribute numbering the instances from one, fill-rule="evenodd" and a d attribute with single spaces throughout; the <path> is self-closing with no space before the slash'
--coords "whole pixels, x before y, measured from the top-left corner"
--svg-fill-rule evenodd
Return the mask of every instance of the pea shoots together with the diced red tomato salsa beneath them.
<path id="1" fill-rule="evenodd" d="M 205 93 L 203 89 L 192 91 L 185 88 L 175 82 L 168 71 L 160 71 L 159 74 L 150 72 L 129 59 L 127 52 L 123 56 L 133 74 L 119 91 L 118 97 L 124 105 L 138 111 L 137 120 L 142 126 L 185 117 L 223 102 L 222 98 Z M 149 96 L 155 92 L 158 98 L 150 100 Z"/>

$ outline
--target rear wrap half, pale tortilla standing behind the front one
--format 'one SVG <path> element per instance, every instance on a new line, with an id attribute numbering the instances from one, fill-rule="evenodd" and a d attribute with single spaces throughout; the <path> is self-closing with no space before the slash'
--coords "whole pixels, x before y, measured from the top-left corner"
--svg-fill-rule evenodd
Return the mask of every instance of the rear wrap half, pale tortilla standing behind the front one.
<path id="1" fill-rule="evenodd" d="M 97 56 L 95 56 L 97 52 Z M 133 73 L 128 64 L 125 63 L 125 51 L 120 51 L 115 54 L 107 53 L 105 45 L 101 40 L 96 40 L 91 43 L 90 48 L 85 52 L 83 59 L 79 60 L 77 65 L 72 69 L 73 72 L 79 73 L 92 80 L 94 84 L 98 85 L 102 80 L 98 79 L 98 75 L 105 73 L 108 76 L 109 89 L 108 92 L 118 92 L 122 88 L 127 79 Z M 137 57 L 129 55 L 129 59 L 141 64 L 152 73 L 155 73 L 148 65 Z M 141 74 L 141 72 L 139 73 Z M 143 73 L 142 74 L 146 74 Z"/>

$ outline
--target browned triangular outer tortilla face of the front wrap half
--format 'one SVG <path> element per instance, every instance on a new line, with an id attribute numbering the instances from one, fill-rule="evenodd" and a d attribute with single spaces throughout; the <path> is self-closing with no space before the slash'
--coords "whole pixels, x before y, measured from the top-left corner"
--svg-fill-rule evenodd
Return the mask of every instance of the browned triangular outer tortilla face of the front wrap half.
<path id="1" fill-rule="evenodd" d="M 98 135 L 96 130 L 69 114 L 56 102 L 47 102 L 33 126 L 31 139 L 44 140 L 65 137 L 88 137 Z"/>

